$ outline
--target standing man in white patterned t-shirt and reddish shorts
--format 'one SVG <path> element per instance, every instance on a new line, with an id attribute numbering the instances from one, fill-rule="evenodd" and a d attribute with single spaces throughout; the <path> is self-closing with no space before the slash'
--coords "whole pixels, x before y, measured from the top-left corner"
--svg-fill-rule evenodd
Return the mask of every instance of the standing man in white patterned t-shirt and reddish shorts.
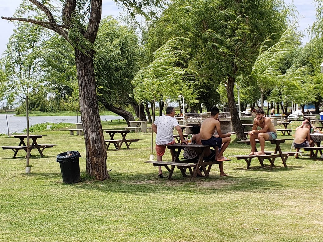
<path id="1" fill-rule="evenodd" d="M 181 142 L 187 145 L 187 142 L 184 140 L 183 132 L 178 124 L 175 116 L 175 108 L 167 107 L 166 115 L 160 116 L 152 125 L 152 130 L 157 134 L 156 135 L 156 153 L 157 160 L 162 161 L 162 156 L 165 153 L 166 145 L 175 144 L 173 130 L 176 128 L 178 134 L 180 135 Z M 174 160 L 174 154 L 172 153 L 172 160 Z M 163 177 L 161 166 L 158 166 L 158 177 Z"/>

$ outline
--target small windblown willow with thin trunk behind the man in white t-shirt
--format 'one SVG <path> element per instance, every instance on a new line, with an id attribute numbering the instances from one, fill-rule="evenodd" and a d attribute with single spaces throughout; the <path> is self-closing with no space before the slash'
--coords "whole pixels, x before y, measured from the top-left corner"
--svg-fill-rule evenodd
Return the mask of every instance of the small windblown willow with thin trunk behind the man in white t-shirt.
<path id="1" fill-rule="evenodd" d="M 179 50 L 183 38 L 173 38 L 158 48 L 153 54 L 153 61 L 141 68 L 132 84 L 134 97 L 139 102 L 153 100 L 153 114 L 157 100 L 177 98 L 183 95 L 191 103 L 196 101 L 196 93 L 189 79 L 196 75 L 185 66 L 189 51 Z M 181 67 L 181 65 L 184 67 Z M 154 120 L 152 120 L 154 121 Z M 151 131 L 151 154 L 153 154 L 153 131 Z"/>

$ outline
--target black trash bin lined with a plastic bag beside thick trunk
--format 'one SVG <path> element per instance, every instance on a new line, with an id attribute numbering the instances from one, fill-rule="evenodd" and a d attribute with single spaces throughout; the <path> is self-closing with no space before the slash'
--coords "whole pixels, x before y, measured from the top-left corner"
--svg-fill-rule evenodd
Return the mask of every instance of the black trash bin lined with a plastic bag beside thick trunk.
<path id="1" fill-rule="evenodd" d="M 81 181 L 79 157 L 81 155 L 78 151 L 68 151 L 57 155 L 56 161 L 59 162 L 64 183 Z"/>

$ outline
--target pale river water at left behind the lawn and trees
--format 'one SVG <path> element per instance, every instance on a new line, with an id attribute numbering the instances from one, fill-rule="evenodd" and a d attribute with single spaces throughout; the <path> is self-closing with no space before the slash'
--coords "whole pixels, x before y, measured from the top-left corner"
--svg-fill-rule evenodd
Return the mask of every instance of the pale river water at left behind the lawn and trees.
<path id="1" fill-rule="evenodd" d="M 26 117 L 17 117 L 14 114 L 8 114 L 9 132 L 10 133 L 22 133 L 26 128 Z M 120 116 L 102 115 L 101 120 L 119 119 Z M 29 126 L 33 124 L 41 124 L 45 122 L 52 123 L 77 123 L 77 116 L 31 116 L 29 117 Z M 81 117 L 78 116 L 78 122 L 81 122 Z M 0 134 L 7 134 L 7 122 L 5 114 L 0 114 Z"/>

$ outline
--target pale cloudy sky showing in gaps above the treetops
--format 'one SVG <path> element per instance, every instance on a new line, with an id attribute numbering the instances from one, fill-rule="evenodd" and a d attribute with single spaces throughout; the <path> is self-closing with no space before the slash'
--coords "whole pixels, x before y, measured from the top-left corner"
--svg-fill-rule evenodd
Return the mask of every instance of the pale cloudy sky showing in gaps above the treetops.
<path id="1" fill-rule="evenodd" d="M 22 0 L 0 0 L 0 16 L 12 17 L 16 8 L 19 6 Z M 102 1 L 102 16 L 113 15 L 118 17 L 119 13 L 122 11 L 114 3 L 113 0 L 103 0 Z M 294 3 L 299 12 L 299 30 L 304 31 L 306 28 L 311 26 L 315 21 L 315 4 L 312 0 L 285 0 L 287 4 Z M 3 53 L 6 49 L 6 44 L 8 42 L 9 36 L 12 35 L 14 24 L 10 23 L 7 20 L 0 19 L 0 53 Z M 303 43 L 306 43 L 309 40 L 308 35 L 306 34 L 303 39 Z"/>

